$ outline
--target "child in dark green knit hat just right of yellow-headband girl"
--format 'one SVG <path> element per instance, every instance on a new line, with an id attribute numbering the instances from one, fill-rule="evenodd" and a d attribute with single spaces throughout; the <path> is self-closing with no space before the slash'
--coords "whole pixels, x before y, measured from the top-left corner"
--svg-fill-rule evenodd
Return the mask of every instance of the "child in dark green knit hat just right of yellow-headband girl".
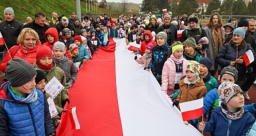
<path id="1" fill-rule="evenodd" d="M 202 59 L 202 56 L 195 51 L 195 47 L 197 47 L 197 44 L 195 43 L 195 39 L 190 37 L 186 41 L 184 41 L 185 45 L 185 52 L 184 52 L 184 58 L 187 60 L 195 60 L 199 62 Z"/>

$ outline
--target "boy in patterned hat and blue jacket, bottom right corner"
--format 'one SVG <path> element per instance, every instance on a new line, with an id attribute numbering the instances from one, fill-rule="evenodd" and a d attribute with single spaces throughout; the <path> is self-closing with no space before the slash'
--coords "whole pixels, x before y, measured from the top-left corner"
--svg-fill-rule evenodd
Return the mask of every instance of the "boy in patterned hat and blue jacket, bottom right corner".
<path id="1" fill-rule="evenodd" d="M 208 122 L 199 123 L 199 130 L 214 135 L 247 135 L 255 118 L 244 109 L 244 95 L 236 84 L 225 81 L 218 88 L 221 106 L 212 111 Z"/>

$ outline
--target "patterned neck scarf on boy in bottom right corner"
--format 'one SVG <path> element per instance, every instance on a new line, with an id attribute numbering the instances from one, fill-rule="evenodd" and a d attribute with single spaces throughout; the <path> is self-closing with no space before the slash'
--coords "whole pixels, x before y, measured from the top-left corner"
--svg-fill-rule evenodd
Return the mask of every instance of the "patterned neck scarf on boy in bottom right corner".
<path id="1" fill-rule="evenodd" d="M 227 116 L 227 118 L 231 120 L 240 119 L 244 114 L 244 108 L 238 108 L 237 111 L 229 111 L 227 109 L 227 106 L 223 105 L 222 103 L 221 103 L 221 111 Z"/>

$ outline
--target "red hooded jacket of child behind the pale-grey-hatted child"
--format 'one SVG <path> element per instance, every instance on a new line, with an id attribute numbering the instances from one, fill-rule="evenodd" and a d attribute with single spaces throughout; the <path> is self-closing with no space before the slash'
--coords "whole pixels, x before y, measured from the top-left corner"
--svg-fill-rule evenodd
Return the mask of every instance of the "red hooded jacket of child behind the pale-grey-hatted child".
<path id="1" fill-rule="evenodd" d="M 54 37 L 54 42 L 51 44 L 50 41 L 48 41 L 47 39 L 47 34 L 51 34 L 53 35 Z M 53 50 L 53 45 L 54 43 L 56 43 L 57 41 L 59 41 L 59 36 L 58 36 L 58 31 L 56 28 L 54 27 L 51 27 L 51 28 L 48 28 L 48 30 L 46 30 L 46 32 L 44 33 L 44 38 L 46 39 L 46 43 L 44 43 L 44 45 L 50 47 L 51 51 Z M 66 48 L 66 47 L 65 47 Z M 68 52 L 68 49 L 66 48 L 66 52 L 65 52 L 66 56 L 68 56 L 68 59 L 73 61 L 72 60 L 72 57 L 70 55 L 70 53 Z"/>

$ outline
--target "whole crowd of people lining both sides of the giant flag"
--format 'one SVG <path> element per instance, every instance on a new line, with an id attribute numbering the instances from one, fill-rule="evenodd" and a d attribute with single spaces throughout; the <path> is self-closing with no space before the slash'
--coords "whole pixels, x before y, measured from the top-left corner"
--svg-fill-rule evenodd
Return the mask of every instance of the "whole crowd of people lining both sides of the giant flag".
<path id="1" fill-rule="evenodd" d="M 200 118 L 184 124 L 212 135 L 256 133 L 255 104 L 244 105 L 244 99 L 250 100 L 256 63 L 246 65 L 241 58 L 250 50 L 256 59 L 255 19 L 233 18 L 223 25 L 220 14 L 213 13 L 202 27 L 197 14 L 178 18 L 172 12 L 158 17 L 121 14 L 117 19 L 104 14 L 95 20 L 82 16 L 80 21 L 75 13 L 68 19 L 52 12 L 47 19 L 36 12 L 34 19 L 27 17 L 21 23 L 11 7 L 5 8 L 4 16 L 0 32 L 6 46 L 0 69 L 7 82 L 0 89 L 0 135 L 55 135 L 79 67 L 100 47 L 107 49 L 111 38 L 141 45 L 142 57 L 136 55 L 134 60 L 154 74 L 173 106 L 179 109 L 182 102 L 204 99 L 209 121 Z M 178 30 L 183 30 L 181 37 Z M 53 98 L 57 115 L 51 117 L 51 96 L 45 87 L 54 77 L 64 89 Z"/>

